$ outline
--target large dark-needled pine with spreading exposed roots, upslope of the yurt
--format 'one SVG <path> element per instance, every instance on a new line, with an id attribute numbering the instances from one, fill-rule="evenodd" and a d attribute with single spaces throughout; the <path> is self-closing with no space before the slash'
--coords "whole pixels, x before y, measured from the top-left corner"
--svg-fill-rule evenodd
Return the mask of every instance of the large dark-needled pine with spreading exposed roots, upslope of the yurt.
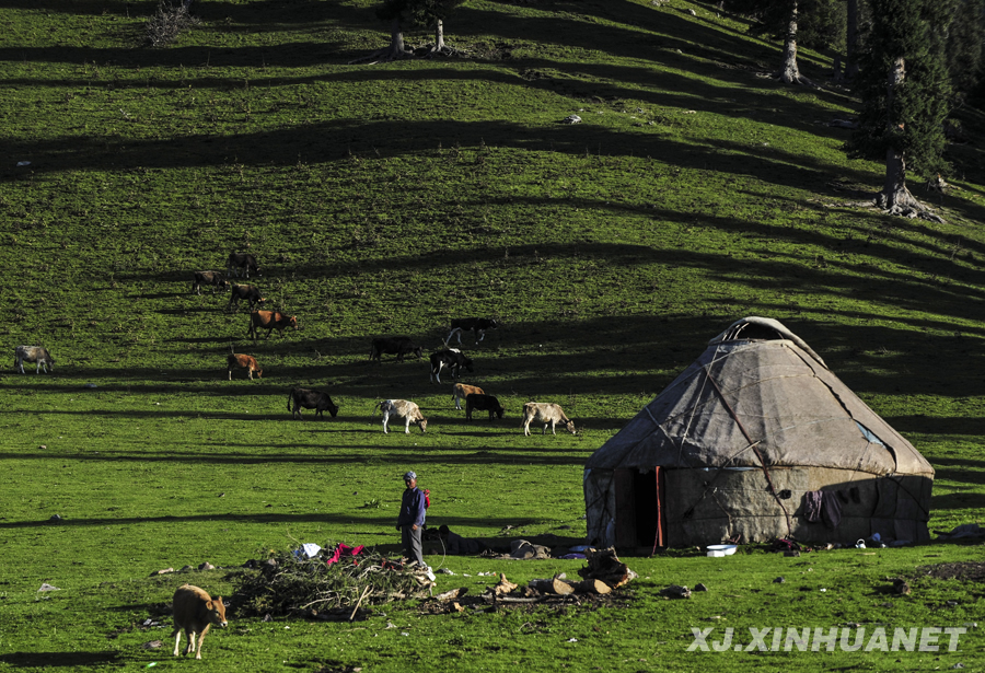
<path id="1" fill-rule="evenodd" d="M 906 174 L 929 177 L 947 169 L 950 86 L 940 30 L 946 18 L 936 0 L 871 0 L 871 5 L 872 30 L 856 86 L 859 127 L 846 150 L 853 159 L 885 160 L 885 182 L 876 198 L 881 208 L 929 217 L 906 188 Z"/>

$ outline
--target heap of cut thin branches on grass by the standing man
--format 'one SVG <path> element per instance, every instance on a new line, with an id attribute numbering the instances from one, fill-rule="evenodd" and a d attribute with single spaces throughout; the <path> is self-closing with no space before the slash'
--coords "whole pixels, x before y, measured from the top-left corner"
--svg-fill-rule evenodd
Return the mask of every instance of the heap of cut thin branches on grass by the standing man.
<path id="1" fill-rule="evenodd" d="M 427 568 L 405 567 L 373 550 L 334 564 L 325 562 L 331 554 L 324 553 L 308 558 L 283 552 L 266 561 L 247 562 L 237 573 L 237 611 L 247 616 L 323 619 L 345 615 L 351 620 L 364 618 L 370 605 L 428 597 L 434 585 Z"/>

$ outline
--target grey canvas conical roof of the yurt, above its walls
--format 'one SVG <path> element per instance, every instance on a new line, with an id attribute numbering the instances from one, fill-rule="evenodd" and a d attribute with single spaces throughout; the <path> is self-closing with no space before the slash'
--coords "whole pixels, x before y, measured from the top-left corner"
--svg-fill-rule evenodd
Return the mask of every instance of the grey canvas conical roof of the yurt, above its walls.
<path id="1" fill-rule="evenodd" d="M 761 317 L 737 321 L 711 339 L 586 467 L 763 463 L 934 475 L 926 459 L 802 339 L 777 321 Z"/>

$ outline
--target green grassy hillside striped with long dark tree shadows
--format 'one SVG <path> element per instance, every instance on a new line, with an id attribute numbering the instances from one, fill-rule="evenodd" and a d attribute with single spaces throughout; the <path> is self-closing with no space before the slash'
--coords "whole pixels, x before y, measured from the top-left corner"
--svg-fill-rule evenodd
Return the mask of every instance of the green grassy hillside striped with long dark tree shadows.
<path id="1" fill-rule="evenodd" d="M 155 8 L 0 11 L 0 334 L 8 357 L 39 344 L 57 360 L 50 375 L 0 373 L 0 670 L 194 665 L 172 660 L 170 630 L 139 626 L 189 579 L 152 571 L 299 541 L 390 548 L 408 468 L 434 524 L 573 541 L 584 460 L 744 315 L 784 322 L 930 460 L 931 530 L 981 519 L 980 113 L 960 113 L 958 188 L 928 197 L 947 223 L 892 219 L 857 205 L 881 166 L 847 161 L 848 131 L 827 126 L 851 114 L 850 92 L 761 77 L 778 47 L 711 4 L 470 0 L 445 25 L 468 58 L 372 66 L 349 65 L 389 40 L 369 0 L 200 0 L 200 24 L 163 49 L 142 46 Z M 826 68 L 802 55 L 814 81 Z M 228 293 L 190 293 L 193 271 L 245 250 L 268 308 L 300 330 L 254 345 Z M 467 382 L 506 406 L 498 423 L 466 423 L 422 361 L 368 362 L 374 336 L 432 350 L 466 315 L 502 323 L 464 339 Z M 230 382 L 230 348 L 256 356 L 263 380 Z M 293 385 L 331 392 L 338 418 L 292 422 Z M 417 402 L 428 432 L 384 436 L 370 414 L 386 397 Z M 524 438 L 530 399 L 560 403 L 578 434 Z M 973 668 L 972 628 L 936 654 L 685 650 L 716 616 L 743 631 L 960 627 L 982 615 L 981 580 L 925 579 L 900 597 L 878 585 L 981 550 L 630 558 L 640 581 L 624 606 L 390 606 L 366 629 L 234 616 L 204 657 L 221 671 Z M 442 591 L 463 573 L 479 591 L 493 583 L 479 571 L 580 567 L 429 561 L 460 576 Z M 192 581 L 232 584 L 222 570 Z M 695 582 L 712 591 L 656 595 Z M 153 639 L 164 647 L 140 649 Z"/>

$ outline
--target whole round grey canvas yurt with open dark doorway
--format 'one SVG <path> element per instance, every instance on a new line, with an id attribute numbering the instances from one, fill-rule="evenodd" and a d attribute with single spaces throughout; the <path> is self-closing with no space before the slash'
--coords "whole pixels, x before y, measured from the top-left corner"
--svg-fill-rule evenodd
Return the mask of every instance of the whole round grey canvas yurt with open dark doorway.
<path id="1" fill-rule="evenodd" d="M 779 322 L 746 317 L 586 463 L 621 548 L 928 539 L 934 468 Z"/>

